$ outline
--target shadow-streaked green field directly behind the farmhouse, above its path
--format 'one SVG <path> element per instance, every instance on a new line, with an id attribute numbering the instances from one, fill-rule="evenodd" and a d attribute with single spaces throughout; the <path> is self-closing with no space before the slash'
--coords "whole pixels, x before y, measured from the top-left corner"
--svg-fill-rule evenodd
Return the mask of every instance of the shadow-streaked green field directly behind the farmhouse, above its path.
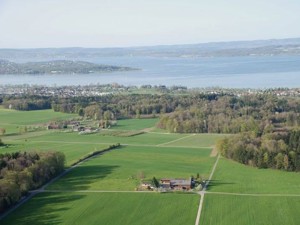
<path id="1" fill-rule="evenodd" d="M 215 158 L 211 149 L 125 146 L 76 167 L 51 184 L 52 190 L 129 190 L 145 179 L 200 175 L 206 179 Z"/>

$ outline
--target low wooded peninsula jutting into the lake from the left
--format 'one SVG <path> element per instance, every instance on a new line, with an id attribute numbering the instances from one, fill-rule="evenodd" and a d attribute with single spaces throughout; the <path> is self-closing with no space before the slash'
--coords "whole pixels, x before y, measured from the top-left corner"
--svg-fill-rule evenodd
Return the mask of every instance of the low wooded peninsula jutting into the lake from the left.
<path id="1" fill-rule="evenodd" d="M 7 60 L 0 60 L 0 74 L 88 74 L 129 70 L 136 69 L 69 60 L 28 63 L 14 63 Z"/>

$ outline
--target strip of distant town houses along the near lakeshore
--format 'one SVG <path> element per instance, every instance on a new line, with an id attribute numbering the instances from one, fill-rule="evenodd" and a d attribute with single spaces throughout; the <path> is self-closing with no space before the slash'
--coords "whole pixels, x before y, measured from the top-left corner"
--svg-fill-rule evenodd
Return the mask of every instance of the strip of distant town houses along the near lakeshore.
<path id="1" fill-rule="evenodd" d="M 187 88 L 185 86 L 142 85 L 124 86 L 118 83 L 104 85 L 42 86 L 42 85 L 0 85 L 0 95 L 35 96 L 103 96 L 110 94 L 216 94 L 245 96 L 253 94 L 271 94 L 276 96 L 300 96 L 300 88 L 235 89 L 235 88 Z"/>

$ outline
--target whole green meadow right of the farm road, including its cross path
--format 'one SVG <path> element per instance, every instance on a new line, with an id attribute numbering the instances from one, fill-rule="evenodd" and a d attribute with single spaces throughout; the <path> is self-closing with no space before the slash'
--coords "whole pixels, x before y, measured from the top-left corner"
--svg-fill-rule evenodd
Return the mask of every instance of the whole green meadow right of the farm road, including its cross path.
<path id="1" fill-rule="evenodd" d="M 296 225 L 299 208 L 298 173 L 258 169 L 221 158 L 204 197 L 200 223 Z"/>

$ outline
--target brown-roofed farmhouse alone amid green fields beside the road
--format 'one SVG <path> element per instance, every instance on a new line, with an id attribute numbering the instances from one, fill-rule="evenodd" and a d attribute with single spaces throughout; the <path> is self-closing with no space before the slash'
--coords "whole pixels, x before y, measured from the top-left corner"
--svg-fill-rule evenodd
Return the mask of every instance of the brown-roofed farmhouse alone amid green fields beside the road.
<path id="1" fill-rule="evenodd" d="M 190 190 L 192 188 L 192 178 L 163 178 L 160 180 L 162 188 L 173 189 L 173 190 Z"/>

